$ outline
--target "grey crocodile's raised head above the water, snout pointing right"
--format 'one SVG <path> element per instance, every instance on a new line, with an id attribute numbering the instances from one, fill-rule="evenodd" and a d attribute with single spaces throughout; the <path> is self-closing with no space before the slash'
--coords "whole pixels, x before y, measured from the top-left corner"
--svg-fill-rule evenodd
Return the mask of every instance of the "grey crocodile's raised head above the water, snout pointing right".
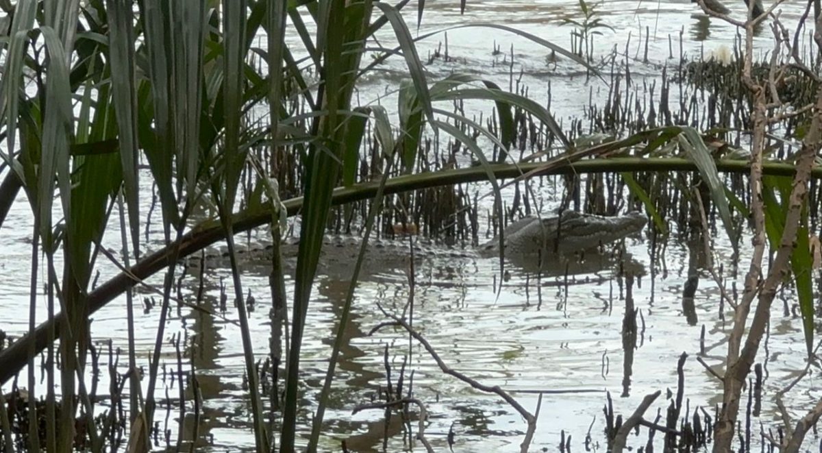
<path id="1" fill-rule="evenodd" d="M 506 252 L 543 255 L 583 252 L 638 233 L 647 219 L 641 212 L 607 217 L 566 210 L 538 219 L 525 217 L 506 229 Z M 499 250 L 499 238 L 483 244 L 481 251 Z"/>

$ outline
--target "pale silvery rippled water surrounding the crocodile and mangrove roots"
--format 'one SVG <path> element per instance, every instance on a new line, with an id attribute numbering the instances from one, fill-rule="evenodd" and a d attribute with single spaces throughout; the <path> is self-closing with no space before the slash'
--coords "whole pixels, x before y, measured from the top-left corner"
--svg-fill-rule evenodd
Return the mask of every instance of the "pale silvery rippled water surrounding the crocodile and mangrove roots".
<path id="1" fill-rule="evenodd" d="M 737 12 L 740 5 L 733 6 Z M 795 21 L 800 9 L 788 3 L 783 9 L 783 21 Z M 414 11 L 410 8 L 409 11 Z M 615 32 L 603 30 L 599 37 L 598 53 L 607 53 L 612 45 L 624 49 L 632 36 L 629 53 L 638 52 L 637 44 L 647 30 L 649 40 L 649 64 L 634 64 L 636 77 L 658 76 L 659 67 L 668 60 L 669 50 L 680 52 L 679 33 L 684 30 L 686 53 L 699 52 L 719 44 L 730 44 L 734 35 L 731 27 L 718 21 L 708 21 L 697 13 L 698 7 L 690 2 L 637 2 L 612 1 L 601 8 L 604 21 Z M 459 2 L 427 2 L 423 26 L 419 33 L 439 30 L 472 22 L 494 22 L 524 30 L 533 35 L 566 46 L 571 28 L 559 25 L 563 16 L 578 14 L 575 1 L 503 1 L 469 2 L 464 15 L 459 14 Z M 407 20 L 413 23 L 414 15 Z M 668 36 L 672 36 L 669 41 Z M 701 39 L 706 39 L 702 41 Z M 381 36 L 384 45 L 391 42 L 390 33 Z M 435 49 L 437 37 L 419 44 L 421 56 Z M 503 55 L 492 55 L 493 44 L 501 46 Z M 769 38 L 759 38 L 758 45 L 765 46 Z M 558 62 L 556 67 L 546 61 L 547 50 L 515 35 L 499 30 L 463 28 L 448 32 L 448 51 L 453 61 L 436 60 L 428 66 L 432 80 L 451 72 L 472 72 L 487 76 L 501 86 L 509 86 L 510 67 L 502 64 L 505 53 L 513 46 L 515 53 L 515 77 L 522 72 L 521 85 L 529 86 L 529 95 L 540 103 L 547 103 L 547 84 L 552 86 L 551 109 L 557 118 L 581 116 L 589 94 L 594 100 L 603 95 L 604 85 L 597 81 L 585 81 L 584 72 L 568 62 Z M 669 47 L 670 46 L 670 47 Z M 639 51 L 640 59 L 642 52 Z M 394 60 L 384 65 L 384 72 L 369 76 L 361 86 L 359 97 L 363 103 L 381 102 L 393 110 L 395 97 L 381 97 L 386 90 L 395 89 L 403 62 Z M 580 94 L 584 99 L 580 101 Z M 489 111 L 489 106 L 466 103 L 466 111 Z M 144 178 L 144 184 L 147 178 Z M 475 186 L 485 193 L 488 187 Z M 560 193 L 552 184 L 536 186 L 543 210 L 556 206 Z M 150 186 L 145 186 L 150 194 Z M 511 195 L 506 190 L 506 195 Z M 150 195 L 145 196 L 146 203 Z M 490 205 L 489 205 L 490 206 Z M 145 206 L 147 211 L 147 205 Z M 145 212 L 144 211 L 144 212 Z M 156 215 L 156 214 L 155 214 Z M 156 224 L 156 222 L 155 222 Z M 676 225 L 672 225 L 674 236 Z M 30 257 L 31 218 L 25 201 L 18 201 L 0 229 L 0 247 L 3 261 L 0 263 L 0 310 L 4 321 L 2 329 L 12 335 L 20 335 L 27 329 L 28 275 Z M 153 232 L 147 249 L 159 247 L 159 232 Z M 116 248 L 119 232 L 116 222 L 109 229 L 105 243 Z M 747 242 L 744 242 L 747 243 Z M 727 240 L 719 235 L 713 250 L 716 261 L 731 266 L 732 253 Z M 729 324 L 718 317 L 719 294 L 715 284 L 705 275 L 700 279 L 693 310 L 682 302 L 682 290 L 688 274 L 689 251 L 685 244 L 672 240 L 667 244 L 664 262 L 652 263 L 649 257 L 649 240 L 645 234 L 626 242 L 626 251 L 634 268 L 644 270 L 631 288 L 635 307 L 640 310 L 641 335 L 635 350 L 628 354 L 623 349 L 621 335 L 625 311 L 626 279 L 617 275 L 617 265 L 606 262 L 580 270 L 576 275 L 557 272 L 543 274 L 540 278 L 529 275 L 515 266 L 509 266 L 510 280 L 500 284 L 498 263 L 494 259 L 435 258 L 420 261 L 415 273 L 413 297 L 413 325 L 432 344 L 441 359 L 459 372 L 489 386 L 501 386 L 510 392 L 526 409 L 537 407 L 538 393 L 543 395 L 538 427 L 532 450 L 554 450 L 561 431 L 571 437 L 571 447 L 584 448 L 586 433 L 591 433 L 593 443 L 605 449 L 603 444 L 603 404 L 605 392 L 613 396 L 615 410 L 627 416 L 632 413 L 642 397 L 667 388 L 676 389 L 677 359 L 686 352 L 686 397 L 690 408 L 705 407 L 713 414 L 713 404 L 718 403 L 720 386 L 704 368 L 696 362 L 700 352 L 700 332 L 706 330 L 708 344 L 705 360 L 714 366 L 722 363 L 725 347 L 723 340 Z M 746 263 L 748 257 L 741 257 Z M 335 332 L 336 321 L 348 289 L 343 270 L 328 268 L 316 280 L 309 308 L 306 338 L 303 344 L 302 370 L 305 386 L 302 390 L 304 404 L 302 415 L 310 418 L 319 395 L 321 380 L 325 376 L 330 354 L 330 337 Z M 655 277 L 651 279 L 651 274 Z M 100 281 L 113 275 L 113 266 L 101 266 Z M 209 270 L 205 279 L 205 297 L 201 304 L 207 311 L 219 313 L 219 281 L 230 280 L 228 270 Z M 161 279 L 155 276 L 150 284 L 157 288 Z M 740 285 L 741 286 L 741 285 Z M 256 297 L 256 307 L 250 313 L 252 335 L 260 339 L 255 352 L 260 358 L 268 353 L 270 325 L 268 312 L 270 296 L 268 277 L 262 270 L 248 269 L 243 275 L 243 287 Z M 141 297 L 149 296 L 141 289 Z M 196 279 L 189 277 L 182 286 L 182 294 L 194 303 L 197 291 Z M 289 297 L 291 294 L 289 293 Z M 781 297 L 788 305 L 794 303 L 790 292 Z M 417 342 L 410 342 L 403 331 L 382 329 L 374 335 L 368 332 L 385 321 L 377 304 L 389 312 L 401 313 L 409 301 L 409 277 L 402 266 L 368 272 L 358 284 L 354 301 L 353 318 L 346 331 L 347 346 L 342 351 L 331 408 L 326 413 L 326 437 L 323 449 L 340 450 L 345 440 L 350 451 L 377 451 L 388 433 L 387 451 L 410 448 L 404 442 L 403 425 L 399 417 L 391 418 L 386 425 L 382 410 L 366 410 L 352 414 L 352 410 L 371 401 L 386 386 L 384 352 L 392 369 L 392 383 L 396 384 L 399 368 L 408 354 L 407 372 L 413 370 L 413 395 L 426 404 L 429 424 L 427 439 L 437 451 L 448 448 L 448 434 L 454 433 L 455 451 L 519 451 L 520 441 L 526 428 L 524 420 L 496 395 L 472 390 L 453 377 L 446 376 Z M 774 317 L 770 336 L 761 348 L 757 363 L 764 364 L 765 401 L 759 419 L 766 426 L 778 419 L 772 398 L 774 391 L 797 370 L 804 367 L 804 340 L 801 321 L 783 315 L 783 300 L 774 303 Z M 39 320 L 44 318 L 39 312 Z M 112 339 L 115 347 L 125 349 L 127 333 L 123 329 L 126 317 L 125 298 L 118 298 L 95 313 L 93 331 L 96 338 Z M 198 446 L 203 451 L 252 450 L 251 410 L 244 390 L 244 365 L 237 314 L 228 307 L 224 317 L 212 316 L 189 307 L 174 307 L 166 326 L 166 337 L 181 335 L 192 344 L 192 354 L 183 360 L 183 367 L 196 370 L 200 382 L 204 406 L 198 429 Z M 137 348 L 141 364 L 147 364 L 153 348 L 159 320 L 157 308 L 140 312 L 137 318 Z M 265 340 L 263 340 L 265 339 Z M 166 344 L 169 344 L 168 341 Z M 105 354 L 104 354 L 105 356 Z M 176 367 L 173 347 L 164 348 L 164 361 Z M 169 368 L 170 369 L 170 368 Z M 171 372 L 164 376 L 171 376 Z M 408 374 L 406 374 L 408 379 Z M 818 382 L 811 375 L 802 386 L 787 398 L 793 414 L 801 414 L 815 402 Z M 170 379 L 158 389 L 163 401 L 166 392 L 172 395 L 169 413 L 160 409 L 155 416 L 161 428 L 168 425 L 172 445 L 177 435 L 178 408 L 173 395 L 177 395 L 177 383 Z M 107 388 L 103 384 L 100 388 Z M 407 386 L 406 386 L 407 388 Z M 6 386 L 3 387 L 7 389 Z M 563 392 L 559 392 L 563 391 Z M 378 399 L 378 398 L 377 398 Z M 186 422 L 186 437 L 192 436 L 193 419 L 191 394 Z M 653 418 L 656 409 L 663 413 L 669 400 L 660 397 L 649 410 Z M 592 425 L 593 423 L 593 425 Z M 307 427 L 307 424 L 305 425 Z M 589 428 L 592 427 L 593 428 Z M 413 423 L 413 429 L 417 425 Z M 305 428 L 304 428 L 305 429 Z M 809 436 L 808 445 L 819 442 Z M 644 445 L 644 436 L 637 445 Z M 658 436 L 661 441 L 661 436 Z M 415 451 L 422 446 L 414 445 Z"/>

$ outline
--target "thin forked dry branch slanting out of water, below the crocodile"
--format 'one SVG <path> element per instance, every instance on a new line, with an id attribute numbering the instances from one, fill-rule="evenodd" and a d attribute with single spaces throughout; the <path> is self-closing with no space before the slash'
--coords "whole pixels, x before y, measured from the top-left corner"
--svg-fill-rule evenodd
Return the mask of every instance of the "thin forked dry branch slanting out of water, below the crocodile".
<path id="1" fill-rule="evenodd" d="M 500 386 L 486 386 L 485 384 L 482 384 L 468 376 L 465 376 L 463 373 L 448 367 L 448 365 L 446 365 L 446 363 L 442 361 L 440 355 L 436 354 L 436 350 L 432 347 L 432 345 L 428 343 L 427 340 L 425 340 L 423 335 L 420 335 L 417 331 L 414 331 L 411 328 L 411 326 L 409 326 L 408 322 L 406 322 L 403 319 L 400 319 L 399 317 L 390 315 L 388 312 L 386 312 L 385 309 L 383 309 L 383 307 L 381 307 L 380 304 L 377 304 L 377 307 L 380 309 L 381 312 L 383 312 L 383 314 L 386 315 L 386 317 L 390 317 L 393 321 L 386 321 L 382 322 L 381 324 L 378 324 L 377 326 L 372 328 L 371 331 L 368 332 L 368 336 L 374 335 L 376 331 L 379 331 L 383 327 L 400 326 L 404 328 L 405 331 L 408 331 L 409 335 L 413 336 L 414 340 L 417 340 L 420 344 L 423 344 L 425 350 L 428 352 L 428 354 L 431 355 L 431 357 L 434 359 L 437 366 L 440 367 L 442 372 L 450 376 L 456 377 L 460 381 L 465 382 L 466 384 L 473 387 L 474 389 L 477 389 L 478 391 L 484 391 L 486 393 L 493 393 L 499 395 L 503 400 L 506 401 L 506 403 L 510 404 L 511 407 L 513 407 L 518 413 L 520 413 L 522 418 L 525 418 L 525 421 L 528 423 L 528 429 L 525 432 L 525 438 L 520 444 L 520 451 L 522 453 L 528 452 L 529 446 L 531 445 L 531 441 L 533 440 L 533 433 L 537 429 L 537 417 L 539 415 L 539 408 L 543 404 L 543 394 L 539 394 L 539 398 L 537 400 L 537 409 L 532 415 L 528 410 L 522 407 L 522 405 L 518 403 L 517 400 L 515 400 L 506 391 L 502 390 Z"/>

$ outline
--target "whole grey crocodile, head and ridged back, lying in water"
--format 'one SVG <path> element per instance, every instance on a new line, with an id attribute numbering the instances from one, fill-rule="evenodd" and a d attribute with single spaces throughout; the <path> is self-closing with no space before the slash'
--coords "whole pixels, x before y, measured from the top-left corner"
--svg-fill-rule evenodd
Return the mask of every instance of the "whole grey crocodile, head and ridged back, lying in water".
<path id="1" fill-rule="evenodd" d="M 640 212 L 626 215 L 603 216 L 581 214 L 566 210 L 550 217 L 529 216 L 509 224 L 505 229 L 504 247 L 506 260 L 526 267 L 543 258 L 548 261 L 559 261 L 559 257 L 570 257 L 577 252 L 597 249 L 600 245 L 613 243 L 640 232 L 647 223 L 647 218 Z M 413 244 L 414 257 L 418 260 L 439 259 L 443 264 L 455 260 L 492 258 L 500 256 L 500 240 L 493 238 L 479 247 L 457 248 L 442 244 L 424 244 L 422 241 L 377 240 L 368 243 L 363 271 L 366 274 L 386 270 L 403 269 L 408 266 L 411 257 L 410 247 Z M 320 270 L 337 268 L 336 273 L 346 274 L 353 268 L 362 239 L 355 236 L 326 237 L 321 259 Z M 285 241 L 281 247 L 284 263 L 293 268 L 299 244 L 296 240 Z M 238 262 L 243 270 L 269 268 L 272 249 L 270 245 L 238 247 Z M 206 252 L 201 256 L 189 257 L 187 265 L 200 267 L 205 261 L 207 268 L 224 268 L 229 266 L 227 252 Z M 527 266 L 530 267 L 530 266 Z"/>

